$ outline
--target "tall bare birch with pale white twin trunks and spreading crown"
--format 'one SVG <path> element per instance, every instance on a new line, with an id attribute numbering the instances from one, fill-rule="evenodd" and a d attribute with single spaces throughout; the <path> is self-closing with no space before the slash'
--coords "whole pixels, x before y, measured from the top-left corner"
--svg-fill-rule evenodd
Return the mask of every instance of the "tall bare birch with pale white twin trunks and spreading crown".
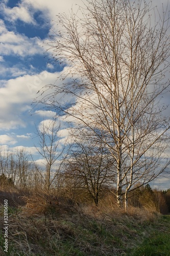
<path id="1" fill-rule="evenodd" d="M 116 162 L 117 204 L 126 190 L 127 207 L 134 184 L 147 184 L 169 165 L 169 118 L 161 100 L 169 87 L 169 16 L 141 0 L 87 3 L 81 13 L 58 15 L 48 47 L 69 68 L 37 101 L 105 143 Z"/>

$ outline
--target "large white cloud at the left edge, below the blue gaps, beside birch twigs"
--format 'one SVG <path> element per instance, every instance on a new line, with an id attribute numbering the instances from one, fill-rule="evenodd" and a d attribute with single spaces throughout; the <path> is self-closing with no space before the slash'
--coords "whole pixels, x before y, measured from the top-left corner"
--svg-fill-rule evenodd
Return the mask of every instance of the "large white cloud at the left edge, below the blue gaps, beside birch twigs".
<path id="1" fill-rule="evenodd" d="M 26 127 L 26 118 L 24 119 L 22 114 L 30 115 L 31 103 L 39 95 L 37 92 L 46 84 L 53 84 L 59 75 L 60 73 L 57 72 L 43 71 L 37 75 L 24 75 L 2 81 L 2 87 L 0 85 L 0 129 L 9 130 Z M 39 112 L 39 116 L 52 117 L 54 112 Z"/>

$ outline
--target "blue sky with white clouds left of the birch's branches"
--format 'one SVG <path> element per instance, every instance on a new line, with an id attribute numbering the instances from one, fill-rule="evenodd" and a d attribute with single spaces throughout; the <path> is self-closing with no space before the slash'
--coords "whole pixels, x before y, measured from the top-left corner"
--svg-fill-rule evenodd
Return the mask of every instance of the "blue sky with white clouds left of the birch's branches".
<path id="1" fill-rule="evenodd" d="M 167 4 L 167 0 L 162 0 Z M 77 8 L 81 0 L 1 0 L 0 2 L 0 144 L 25 147 L 35 158 L 36 126 L 54 112 L 34 108 L 37 92 L 54 83 L 63 67 L 45 54 L 44 41 L 55 28 L 56 15 Z M 161 5 L 161 1 L 154 1 Z M 66 123 L 62 122 L 64 136 Z M 155 181 L 167 189 L 169 179 Z"/>

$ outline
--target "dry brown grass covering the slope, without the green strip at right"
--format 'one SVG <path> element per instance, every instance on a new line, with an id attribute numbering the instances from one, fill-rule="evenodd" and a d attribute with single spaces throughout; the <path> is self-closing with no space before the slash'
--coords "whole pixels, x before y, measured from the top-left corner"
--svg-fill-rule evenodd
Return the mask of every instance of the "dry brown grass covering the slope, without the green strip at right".
<path id="1" fill-rule="evenodd" d="M 54 191 L 47 195 L 42 190 L 4 188 L 0 192 L 0 225 L 4 224 L 3 200 L 8 199 L 7 255 L 130 255 L 141 239 L 139 233 L 149 236 L 148 227 L 158 225 L 160 218 L 156 208 L 145 204 L 153 198 L 146 199 L 144 193 L 138 196 L 140 207 L 125 211 L 117 208 L 111 193 L 97 207 L 92 200 L 81 203 L 79 198 L 77 203 L 66 196 L 58 197 Z M 153 191 L 153 195 L 157 193 Z M 0 237 L 1 255 L 6 255 L 3 233 Z"/>

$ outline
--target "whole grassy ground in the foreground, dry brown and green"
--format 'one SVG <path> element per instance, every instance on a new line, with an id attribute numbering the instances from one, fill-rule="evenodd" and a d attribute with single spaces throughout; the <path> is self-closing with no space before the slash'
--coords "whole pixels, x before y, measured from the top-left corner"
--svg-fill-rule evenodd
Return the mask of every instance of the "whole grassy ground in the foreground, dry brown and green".
<path id="1" fill-rule="evenodd" d="M 170 217 L 144 208 L 125 212 L 36 195 L 27 206 L 9 207 L 8 232 L 8 253 L 0 233 L 1 255 L 170 255 Z"/>

